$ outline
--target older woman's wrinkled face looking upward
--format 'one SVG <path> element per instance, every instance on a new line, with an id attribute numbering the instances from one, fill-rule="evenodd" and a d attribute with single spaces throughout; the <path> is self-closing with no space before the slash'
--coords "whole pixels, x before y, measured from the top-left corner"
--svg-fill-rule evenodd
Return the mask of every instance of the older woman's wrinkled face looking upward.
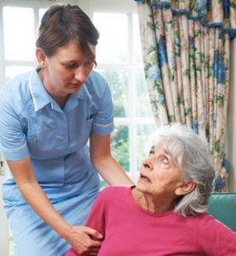
<path id="1" fill-rule="evenodd" d="M 175 197 L 176 189 L 181 184 L 181 170 L 170 152 L 162 144 L 153 147 L 142 162 L 136 189 L 149 195 Z"/>

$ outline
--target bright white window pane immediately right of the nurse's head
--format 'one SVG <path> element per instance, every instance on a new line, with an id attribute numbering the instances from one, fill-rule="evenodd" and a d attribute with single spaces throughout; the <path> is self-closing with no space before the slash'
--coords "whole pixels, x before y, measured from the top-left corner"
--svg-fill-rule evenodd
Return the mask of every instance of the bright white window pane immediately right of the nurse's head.
<path id="1" fill-rule="evenodd" d="M 95 13 L 94 23 L 100 32 L 96 49 L 98 63 L 124 63 L 128 58 L 128 15 Z"/>

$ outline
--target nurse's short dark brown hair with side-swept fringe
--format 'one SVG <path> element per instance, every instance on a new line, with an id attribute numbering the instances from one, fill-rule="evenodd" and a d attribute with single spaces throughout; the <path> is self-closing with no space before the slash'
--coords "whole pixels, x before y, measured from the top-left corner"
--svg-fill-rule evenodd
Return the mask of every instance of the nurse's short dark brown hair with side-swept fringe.
<path id="1" fill-rule="evenodd" d="M 96 45 L 98 38 L 99 32 L 89 16 L 78 6 L 53 5 L 43 15 L 36 46 L 50 57 L 55 54 L 56 49 L 75 41 L 85 55 L 94 60 L 95 56 L 88 44 Z"/>

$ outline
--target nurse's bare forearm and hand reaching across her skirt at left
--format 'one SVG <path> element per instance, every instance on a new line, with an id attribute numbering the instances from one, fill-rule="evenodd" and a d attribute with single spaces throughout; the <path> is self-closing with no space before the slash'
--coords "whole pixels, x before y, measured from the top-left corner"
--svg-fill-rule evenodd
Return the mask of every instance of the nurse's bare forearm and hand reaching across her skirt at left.
<path id="1" fill-rule="evenodd" d="M 8 165 L 27 203 L 59 236 L 68 241 L 78 253 L 94 252 L 95 249 L 99 249 L 101 241 L 90 238 L 90 236 L 101 238 L 98 231 L 84 226 L 72 226 L 55 210 L 37 183 L 29 158 L 15 161 L 8 160 Z"/>

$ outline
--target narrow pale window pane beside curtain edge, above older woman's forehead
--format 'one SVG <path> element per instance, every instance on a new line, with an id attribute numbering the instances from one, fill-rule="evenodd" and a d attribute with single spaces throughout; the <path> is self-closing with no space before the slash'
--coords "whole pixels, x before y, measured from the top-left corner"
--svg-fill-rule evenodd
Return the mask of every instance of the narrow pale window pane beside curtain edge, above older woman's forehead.
<path id="1" fill-rule="evenodd" d="M 136 84 L 136 115 L 138 117 L 153 117 L 151 103 L 147 91 L 147 84 L 143 71 L 135 72 L 135 84 Z"/>

